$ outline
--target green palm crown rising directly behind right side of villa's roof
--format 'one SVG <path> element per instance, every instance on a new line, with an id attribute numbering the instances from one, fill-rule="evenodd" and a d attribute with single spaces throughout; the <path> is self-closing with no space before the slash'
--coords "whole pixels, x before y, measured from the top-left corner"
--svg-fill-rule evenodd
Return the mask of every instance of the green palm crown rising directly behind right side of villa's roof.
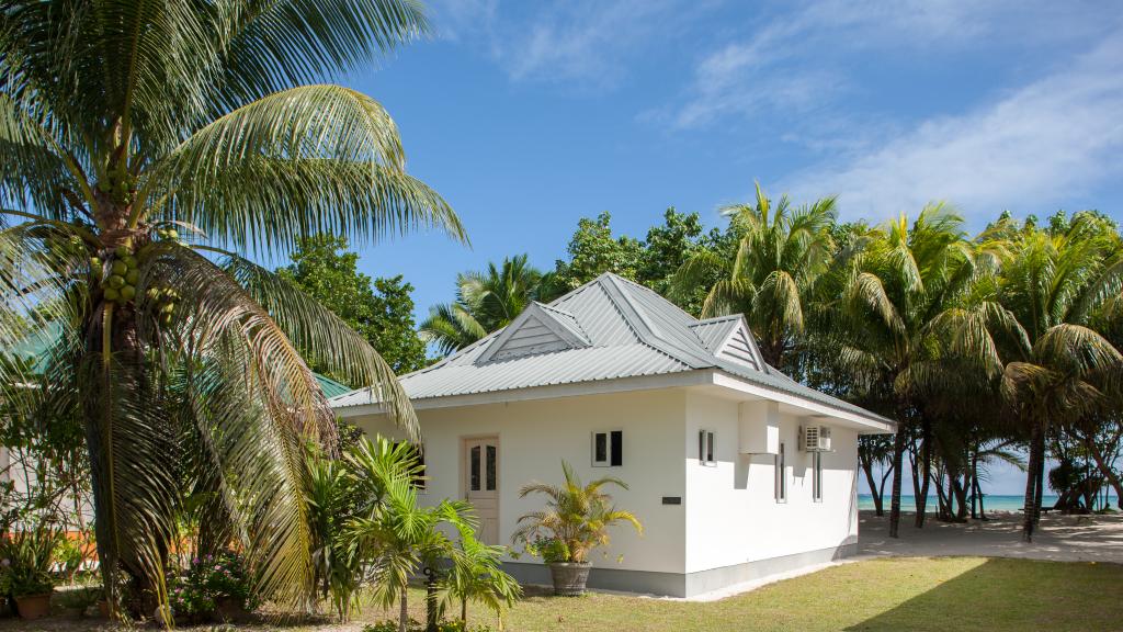
<path id="1" fill-rule="evenodd" d="M 804 333 L 811 289 L 834 253 L 834 198 L 793 208 L 784 196 L 774 205 L 757 183 L 755 204 L 721 213 L 742 235 L 736 256 L 699 250 L 673 277 L 670 294 L 685 299 L 704 279 L 719 276 L 702 317 L 743 314 L 765 361 L 783 368 L 785 353 Z"/>

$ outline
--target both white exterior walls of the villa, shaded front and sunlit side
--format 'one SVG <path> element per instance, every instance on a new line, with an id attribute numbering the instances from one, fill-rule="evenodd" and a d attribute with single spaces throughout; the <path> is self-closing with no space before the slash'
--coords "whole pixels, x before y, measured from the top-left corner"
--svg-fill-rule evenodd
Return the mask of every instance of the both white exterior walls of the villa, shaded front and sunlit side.
<path id="1" fill-rule="evenodd" d="M 587 395 L 418 412 L 427 473 L 424 502 L 463 495 L 462 441 L 499 436 L 499 543 L 510 544 L 522 514 L 541 497 L 519 498 L 531 480 L 558 484 L 562 459 L 583 480 L 618 477 L 618 506 L 645 525 L 613 530 L 592 558 L 590 586 L 691 596 L 848 554 L 857 541 L 857 432 L 832 425 L 823 455 L 823 499 L 812 499 L 812 459 L 796 450 L 798 417 L 780 415 L 787 449 L 787 502 L 775 499 L 774 458 L 738 453 L 738 403 L 688 389 Z M 351 419 L 355 422 L 356 419 Z M 368 434 L 401 433 L 381 418 L 359 419 Z M 802 423 L 807 423 L 806 419 Z M 820 421 L 819 423 L 828 423 Z M 701 428 L 716 432 L 716 463 L 700 464 Z M 593 467 L 592 434 L 623 431 L 623 463 Z M 681 504 L 664 504 L 664 497 Z M 548 584 L 537 560 L 508 558 L 521 581 Z"/>

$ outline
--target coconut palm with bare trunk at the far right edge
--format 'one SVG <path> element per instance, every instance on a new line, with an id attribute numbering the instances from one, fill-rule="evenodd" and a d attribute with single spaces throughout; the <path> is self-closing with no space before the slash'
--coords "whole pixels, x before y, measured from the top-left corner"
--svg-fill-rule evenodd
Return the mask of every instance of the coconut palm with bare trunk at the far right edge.
<path id="1" fill-rule="evenodd" d="M 1012 233 L 998 300 L 1016 322 L 1006 340 L 1003 395 L 1029 436 L 1023 536 L 1031 540 L 1044 486 L 1046 439 L 1051 428 L 1076 424 L 1119 406 L 1123 356 L 1089 327 L 1112 310 L 1123 287 L 1120 235 L 1102 217 L 1078 214 L 1060 231 L 1008 220 Z"/>

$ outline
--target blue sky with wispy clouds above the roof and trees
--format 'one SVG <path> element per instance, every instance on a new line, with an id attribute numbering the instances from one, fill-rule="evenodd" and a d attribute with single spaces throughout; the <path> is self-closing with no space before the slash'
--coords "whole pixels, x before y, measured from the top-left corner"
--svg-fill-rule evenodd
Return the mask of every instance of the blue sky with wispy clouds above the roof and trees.
<path id="1" fill-rule="evenodd" d="M 663 210 L 716 209 L 759 180 L 837 193 L 878 222 L 925 201 L 971 228 L 1003 209 L 1123 202 L 1116 2 L 439 0 L 436 34 L 346 82 L 398 121 L 411 172 L 464 220 L 358 244 L 419 315 L 462 270 L 527 252 L 549 268 L 577 219 L 642 236 Z M 1016 491 L 1016 472 L 993 488 Z"/>

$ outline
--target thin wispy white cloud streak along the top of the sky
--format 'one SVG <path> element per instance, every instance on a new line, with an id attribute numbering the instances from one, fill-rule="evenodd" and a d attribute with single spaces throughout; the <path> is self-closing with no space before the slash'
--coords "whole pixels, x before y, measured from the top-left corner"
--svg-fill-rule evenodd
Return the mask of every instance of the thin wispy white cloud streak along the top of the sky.
<path id="1" fill-rule="evenodd" d="M 951 52 L 1046 45 L 1086 37 L 1101 25 L 1081 7 L 974 0 L 828 0 L 802 6 L 760 25 L 703 57 L 686 97 L 661 110 L 679 128 L 761 111 L 805 115 L 851 88 L 853 54 Z"/>

